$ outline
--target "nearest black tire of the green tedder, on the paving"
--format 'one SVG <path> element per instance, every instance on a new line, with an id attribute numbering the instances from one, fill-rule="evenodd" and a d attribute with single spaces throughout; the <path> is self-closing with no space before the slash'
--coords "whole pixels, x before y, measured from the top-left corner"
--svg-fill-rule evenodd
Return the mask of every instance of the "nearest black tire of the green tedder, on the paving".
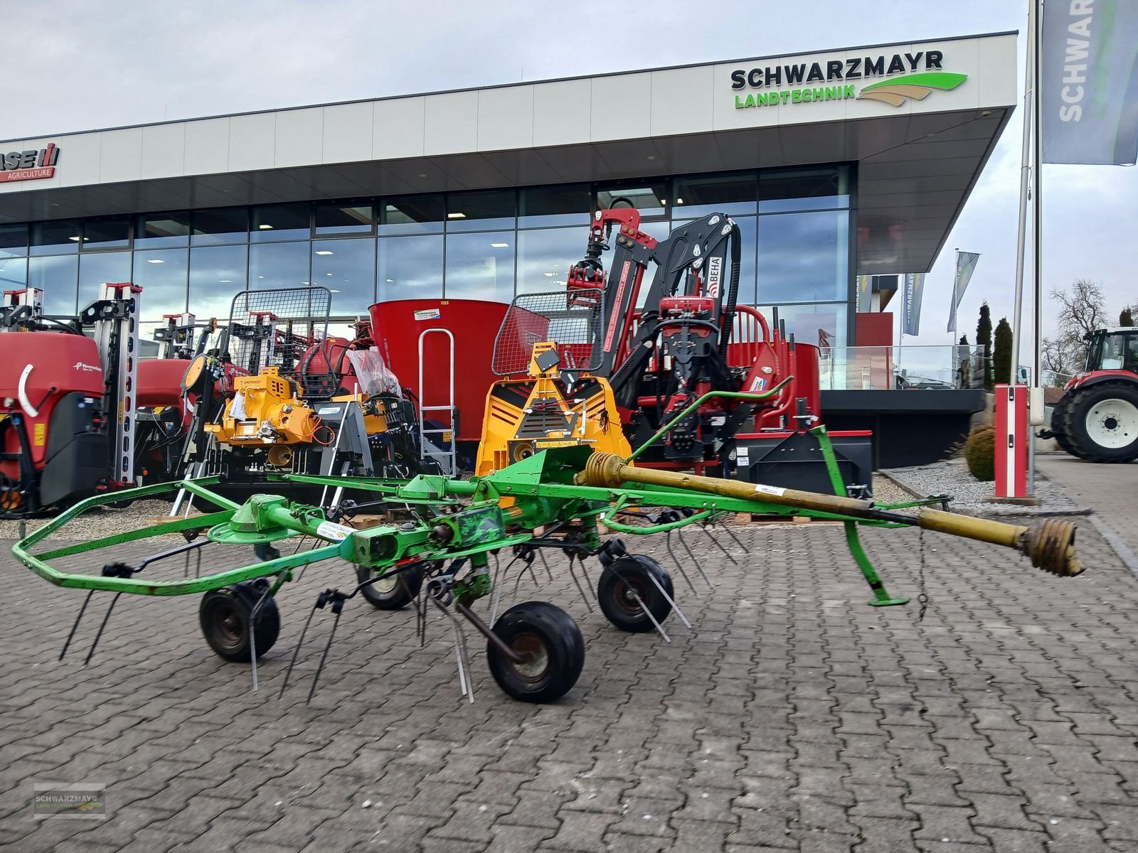
<path id="1" fill-rule="evenodd" d="M 510 661 L 490 640 L 486 657 L 498 687 L 519 702 L 553 702 L 577 684 L 585 666 L 585 639 L 568 613 L 547 602 L 523 602 L 502 614 L 494 633 L 528 656 Z"/>

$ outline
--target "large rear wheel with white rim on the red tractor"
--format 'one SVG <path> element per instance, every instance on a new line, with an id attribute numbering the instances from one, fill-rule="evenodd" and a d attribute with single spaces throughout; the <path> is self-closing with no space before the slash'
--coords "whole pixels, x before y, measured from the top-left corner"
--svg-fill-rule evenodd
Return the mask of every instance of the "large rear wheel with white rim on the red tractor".
<path id="1" fill-rule="evenodd" d="M 1138 382 L 1100 382 L 1074 391 L 1062 429 L 1075 456 L 1091 462 L 1138 459 Z"/>

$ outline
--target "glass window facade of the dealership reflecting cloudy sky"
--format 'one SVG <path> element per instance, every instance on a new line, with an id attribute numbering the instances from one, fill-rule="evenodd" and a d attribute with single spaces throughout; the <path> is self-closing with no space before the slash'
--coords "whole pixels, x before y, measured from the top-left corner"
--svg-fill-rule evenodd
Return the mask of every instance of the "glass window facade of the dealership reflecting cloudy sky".
<path id="1" fill-rule="evenodd" d="M 311 282 L 346 320 L 377 300 L 564 287 L 591 213 L 612 204 L 640 209 L 657 239 L 718 210 L 742 231 L 740 304 L 777 306 L 799 340 L 844 346 L 851 185 L 849 167 L 828 166 L 0 225 L 0 283 L 42 288 L 48 312 L 73 314 L 100 282 L 133 281 L 149 326 L 187 309 L 224 318 L 247 287 Z"/>

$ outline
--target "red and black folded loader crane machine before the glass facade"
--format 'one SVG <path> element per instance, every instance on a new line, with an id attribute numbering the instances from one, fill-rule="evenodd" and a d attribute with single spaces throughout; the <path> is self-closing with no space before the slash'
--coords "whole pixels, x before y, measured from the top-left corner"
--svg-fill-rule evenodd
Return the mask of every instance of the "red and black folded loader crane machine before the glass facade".
<path id="1" fill-rule="evenodd" d="M 605 274 L 601 255 L 613 227 Z M 640 230 L 633 208 L 600 210 L 592 222 L 586 256 L 569 273 L 569 298 L 595 300 L 586 295 L 597 288 L 603 293 L 600 366 L 593 374 L 609 379 L 634 447 L 704 394 L 762 391 L 793 376 L 758 411 L 729 398 L 709 399 L 637 464 L 699 471 L 710 463 L 729 473 L 735 436 L 752 416 L 757 429 L 805 428 L 818 420 L 817 349 L 795 343 L 777 323 L 770 329 L 757 310 L 736 304 L 741 252 L 739 226 L 725 214 L 677 226 L 660 241 Z M 650 264 L 655 272 L 636 310 Z"/>

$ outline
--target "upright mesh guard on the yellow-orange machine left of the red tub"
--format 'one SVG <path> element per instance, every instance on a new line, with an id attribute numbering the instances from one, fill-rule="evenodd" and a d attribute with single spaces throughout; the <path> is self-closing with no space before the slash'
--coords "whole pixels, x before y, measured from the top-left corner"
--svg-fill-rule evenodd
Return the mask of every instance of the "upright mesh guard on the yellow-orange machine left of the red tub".
<path id="1" fill-rule="evenodd" d="M 328 288 L 242 291 L 229 312 L 229 355 L 250 375 L 279 367 L 305 396 L 328 396 L 338 384 L 324 343 L 331 309 Z"/>

